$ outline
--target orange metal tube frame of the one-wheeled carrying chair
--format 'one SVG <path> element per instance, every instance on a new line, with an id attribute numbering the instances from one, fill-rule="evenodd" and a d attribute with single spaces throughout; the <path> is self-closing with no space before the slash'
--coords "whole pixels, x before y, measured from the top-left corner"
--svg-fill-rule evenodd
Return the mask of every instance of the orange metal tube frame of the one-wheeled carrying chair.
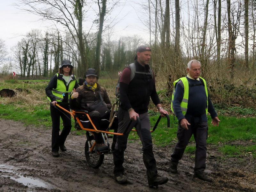
<path id="1" fill-rule="evenodd" d="M 63 107 L 60 107 L 59 104 L 55 104 L 55 105 L 56 105 L 58 108 L 62 109 L 63 111 L 66 111 L 67 113 L 69 113 L 69 114 L 73 117 L 73 119 L 75 119 L 74 115 L 76 115 L 77 113 L 79 113 L 79 114 L 85 114 L 85 115 L 88 117 L 88 119 L 89 119 L 89 121 L 90 121 L 90 123 L 92 124 L 92 127 L 93 127 L 94 129 L 84 128 L 84 126 L 82 125 L 81 121 L 78 119 L 78 117 L 76 117 L 76 121 L 77 121 L 77 123 L 79 124 L 81 130 L 84 130 L 84 131 L 91 131 L 91 132 L 101 132 L 101 133 L 107 133 L 107 134 L 113 134 L 113 135 L 124 135 L 123 133 L 114 133 L 114 132 L 108 132 L 108 131 L 101 131 L 101 130 L 98 130 L 98 129 L 95 127 L 95 125 L 93 124 L 93 122 L 92 122 L 90 116 L 88 115 L 88 113 L 85 113 L 85 112 L 78 112 L 78 111 L 74 111 L 74 110 L 72 110 L 72 112 L 70 112 L 70 111 L 68 111 L 67 109 L 64 109 Z"/>

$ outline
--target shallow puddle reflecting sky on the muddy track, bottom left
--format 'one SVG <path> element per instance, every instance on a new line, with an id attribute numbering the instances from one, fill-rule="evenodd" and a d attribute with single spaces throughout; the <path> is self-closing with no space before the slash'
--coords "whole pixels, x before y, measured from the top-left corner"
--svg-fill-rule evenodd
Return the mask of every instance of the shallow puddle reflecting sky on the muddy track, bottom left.
<path id="1" fill-rule="evenodd" d="M 17 176 L 17 178 L 15 178 L 11 175 L 4 174 L 2 175 L 3 177 L 10 177 L 10 179 L 15 180 L 28 187 L 42 187 L 47 189 L 54 189 L 54 187 L 49 183 L 46 183 L 38 179 L 32 179 L 30 177 L 24 177 L 19 173 L 15 173 L 13 170 L 14 170 L 14 167 L 12 166 L 0 164 L 1 172 L 13 173 Z"/>

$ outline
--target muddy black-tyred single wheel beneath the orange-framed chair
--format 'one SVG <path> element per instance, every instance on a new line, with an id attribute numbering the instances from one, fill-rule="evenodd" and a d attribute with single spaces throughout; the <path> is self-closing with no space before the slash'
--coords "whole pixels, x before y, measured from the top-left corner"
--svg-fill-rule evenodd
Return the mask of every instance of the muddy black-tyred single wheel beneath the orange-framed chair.
<path id="1" fill-rule="evenodd" d="M 88 140 L 86 140 L 86 143 L 84 146 L 84 154 L 85 154 L 86 161 L 92 168 L 95 168 L 95 169 L 99 168 L 100 165 L 103 163 L 104 154 L 99 155 L 97 152 L 95 152 L 95 148 L 92 150 L 92 153 L 89 153 L 89 145 L 87 141 Z"/>

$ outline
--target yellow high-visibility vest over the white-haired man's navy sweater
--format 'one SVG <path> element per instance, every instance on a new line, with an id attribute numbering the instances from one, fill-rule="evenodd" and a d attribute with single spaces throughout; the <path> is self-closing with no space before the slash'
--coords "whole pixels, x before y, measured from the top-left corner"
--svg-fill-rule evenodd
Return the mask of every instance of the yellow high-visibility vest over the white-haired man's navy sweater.
<path id="1" fill-rule="evenodd" d="M 207 91 L 206 81 L 202 77 L 199 77 L 199 78 L 202 79 L 203 82 L 204 82 L 204 90 L 205 90 L 205 93 L 206 93 L 206 109 L 205 109 L 205 113 L 207 115 L 207 113 L 208 113 L 208 91 Z M 172 108 L 172 102 L 173 102 L 173 98 L 174 98 L 174 94 L 175 94 L 175 85 L 180 80 L 182 81 L 182 83 L 184 85 L 184 94 L 183 94 L 183 99 L 182 99 L 182 101 L 180 103 L 180 108 L 181 108 L 182 114 L 185 116 L 186 113 L 187 113 L 187 110 L 188 110 L 188 89 L 189 89 L 188 79 L 186 77 L 181 77 L 180 79 L 178 79 L 178 80 L 173 82 L 174 90 L 172 92 L 171 110 L 174 113 L 173 108 Z"/>

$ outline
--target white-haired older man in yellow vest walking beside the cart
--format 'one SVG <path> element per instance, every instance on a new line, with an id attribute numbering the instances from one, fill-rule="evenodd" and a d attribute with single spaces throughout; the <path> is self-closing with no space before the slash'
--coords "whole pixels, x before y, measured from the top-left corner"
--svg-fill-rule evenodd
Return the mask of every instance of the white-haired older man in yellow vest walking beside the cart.
<path id="1" fill-rule="evenodd" d="M 188 75 L 176 80 L 172 95 L 172 111 L 179 120 L 177 138 L 171 155 L 169 172 L 177 173 L 177 165 L 181 159 L 188 142 L 194 134 L 196 141 L 196 157 L 194 177 L 212 182 L 212 179 L 204 174 L 206 160 L 207 139 L 207 113 L 212 117 L 212 125 L 219 125 L 219 118 L 215 112 L 212 101 L 208 97 L 205 80 L 200 77 L 201 63 L 198 60 L 188 62 Z"/>

